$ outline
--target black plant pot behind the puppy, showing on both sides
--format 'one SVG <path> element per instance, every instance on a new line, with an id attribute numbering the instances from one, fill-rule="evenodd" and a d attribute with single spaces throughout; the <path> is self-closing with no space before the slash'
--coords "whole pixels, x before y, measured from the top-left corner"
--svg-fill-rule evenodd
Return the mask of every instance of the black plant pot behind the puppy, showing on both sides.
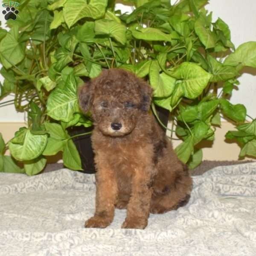
<path id="1" fill-rule="evenodd" d="M 155 106 L 159 119 L 161 122 L 167 126 L 169 119 L 169 111 L 161 108 L 159 106 Z M 159 124 L 160 125 L 160 124 Z M 162 125 L 160 127 L 163 131 L 166 131 Z M 90 132 L 93 130 L 93 127 L 85 128 L 84 126 L 73 126 L 67 129 L 70 136 L 83 134 L 86 132 Z M 92 141 L 90 134 L 81 135 L 72 139 L 76 145 L 76 148 L 79 152 L 81 162 L 82 162 L 82 171 L 84 173 L 95 173 L 95 164 L 94 164 L 94 153 L 92 148 Z"/>

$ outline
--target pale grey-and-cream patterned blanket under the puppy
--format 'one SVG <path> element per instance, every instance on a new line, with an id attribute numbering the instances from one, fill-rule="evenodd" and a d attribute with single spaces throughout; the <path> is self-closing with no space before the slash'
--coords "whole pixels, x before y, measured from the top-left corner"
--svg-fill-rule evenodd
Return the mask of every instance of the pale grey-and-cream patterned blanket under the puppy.
<path id="1" fill-rule="evenodd" d="M 85 229 L 94 175 L 61 169 L 34 177 L 0 173 L 0 256 L 256 256 L 256 163 L 193 177 L 185 207 L 151 214 L 145 230 Z"/>

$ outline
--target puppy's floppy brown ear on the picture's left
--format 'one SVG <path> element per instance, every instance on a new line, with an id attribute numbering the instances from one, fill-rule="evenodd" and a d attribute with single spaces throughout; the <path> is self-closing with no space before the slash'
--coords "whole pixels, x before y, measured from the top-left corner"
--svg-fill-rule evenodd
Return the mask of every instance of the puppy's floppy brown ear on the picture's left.
<path id="1" fill-rule="evenodd" d="M 91 107 L 93 98 L 93 85 L 89 81 L 78 89 L 78 101 L 81 110 L 87 113 Z"/>

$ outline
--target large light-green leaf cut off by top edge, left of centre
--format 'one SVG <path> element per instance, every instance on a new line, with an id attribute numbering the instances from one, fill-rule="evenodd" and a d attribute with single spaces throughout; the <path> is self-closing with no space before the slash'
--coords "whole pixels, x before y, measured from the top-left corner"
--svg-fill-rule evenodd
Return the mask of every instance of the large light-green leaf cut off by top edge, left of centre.
<path id="1" fill-rule="evenodd" d="M 63 8 L 63 16 L 70 28 L 78 20 L 84 17 L 99 19 L 105 14 L 108 0 L 90 0 L 87 4 L 84 0 L 67 0 Z"/>

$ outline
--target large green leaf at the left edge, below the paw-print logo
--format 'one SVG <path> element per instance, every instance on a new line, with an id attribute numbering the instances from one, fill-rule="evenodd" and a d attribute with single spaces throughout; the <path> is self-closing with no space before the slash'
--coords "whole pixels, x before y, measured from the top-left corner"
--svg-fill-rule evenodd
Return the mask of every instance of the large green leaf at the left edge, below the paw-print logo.
<path id="1" fill-rule="evenodd" d="M 26 44 L 19 40 L 18 27 L 13 26 L 0 42 L 0 60 L 3 66 L 8 69 L 22 61 L 25 49 Z"/>

